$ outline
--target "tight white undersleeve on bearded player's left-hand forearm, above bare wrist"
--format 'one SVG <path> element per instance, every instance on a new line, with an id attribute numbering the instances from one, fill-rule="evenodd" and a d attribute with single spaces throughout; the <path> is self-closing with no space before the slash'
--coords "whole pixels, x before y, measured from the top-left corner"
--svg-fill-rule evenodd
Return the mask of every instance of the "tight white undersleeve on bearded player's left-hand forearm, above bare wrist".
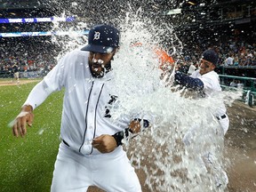
<path id="1" fill-rule="evenodd" d="M 32 91 L 28 95 L 28 99 L 25 101 L 24 105 L 30 105 L 33 109 L 41 105 L 44 100 L 53 92 L 52 89 L 45 84 L 44 80 L 36 84 Z"/>

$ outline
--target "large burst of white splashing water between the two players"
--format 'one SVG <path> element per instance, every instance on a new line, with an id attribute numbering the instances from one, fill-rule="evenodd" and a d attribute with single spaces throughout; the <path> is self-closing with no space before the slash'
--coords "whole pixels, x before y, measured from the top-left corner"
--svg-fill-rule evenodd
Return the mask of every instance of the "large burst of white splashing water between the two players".
<path id="1" fill-rule="evenodd" d="M 116 76 L 113 89 L 120 102 L 111 116 L 114 120 L 127 113 L 151 116 L 151 127 L 125 146 L 133 164 L 146 173 L 148 188 L 223 191 L 228 161 L 222 162 L 223 133 L 212 113 L 221 105 L 220 97 L 228 98 L 229 92 L 200 100 L 182 97 L 184 90 L 173 92 L 170 84 L 166 86 L 160 80 L 159 60 L 154 52 L 162 47 L 172 49 L 172 55 L 180 54 L 182 43 L 172 26 L 141 20 L 137 12 L 127 13 L 120 28 L 122 44 L 112 62 Z M 163 44 L 164 39 L 171 44 L 169 47 Z M 140 46 L 135 45 L 138 43 Z M 230 97 L 225 101 L 230 105 L 239 96 L 234 93 L 231 101 Z M 218 184 L 223 188 L 217 188 Z"/>

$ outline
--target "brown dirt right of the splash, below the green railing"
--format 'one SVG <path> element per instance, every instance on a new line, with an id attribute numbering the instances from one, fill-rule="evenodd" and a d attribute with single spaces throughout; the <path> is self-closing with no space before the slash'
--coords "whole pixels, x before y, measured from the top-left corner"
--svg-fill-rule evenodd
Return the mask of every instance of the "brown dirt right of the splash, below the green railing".
<path id="1" fill-rule="evenodd" d="M 230 128 L 226 135 L 229 192 L 256 191 L 256 107 L 236 101 L 228 108 Z"/>

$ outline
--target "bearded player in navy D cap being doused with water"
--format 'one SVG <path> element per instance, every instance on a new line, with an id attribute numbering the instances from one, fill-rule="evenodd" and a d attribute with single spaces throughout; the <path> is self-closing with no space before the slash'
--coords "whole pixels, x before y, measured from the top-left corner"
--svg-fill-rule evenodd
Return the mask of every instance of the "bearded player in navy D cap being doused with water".
<path id="1" fill-rule="evenodd" d="M 88 44 L 65 55 L 29 93 L 12 127 L 23 137 L 35 110 L 52 92 L 65 88 L 60 125 L 61 143 L 55 162 L 52 192 L 84 192 L 89 186 L 106 191 L 140 192 L 140 182 L 122 148 L 131 132 L 148 121 L 123 116 L 111 121 L 118 100 L 113 92 L 111 60 L 119 47 L 119 31 L 99 25 L 89 32 Z M 140 125 L 141 124 L 141 125 Z"/>

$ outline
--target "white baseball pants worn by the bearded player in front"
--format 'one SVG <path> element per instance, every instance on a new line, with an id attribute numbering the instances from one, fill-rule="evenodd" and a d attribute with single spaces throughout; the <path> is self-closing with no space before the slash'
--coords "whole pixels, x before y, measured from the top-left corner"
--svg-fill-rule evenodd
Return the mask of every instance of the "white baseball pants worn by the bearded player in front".
<path id="1" fill-rule="evenodd" d="M 85 192 L 97 186 L 109 192 L 140 192 L 140 181 L 123 148 L 82 156 L 60 143 L 52 178 L 52 192 Z"/>

